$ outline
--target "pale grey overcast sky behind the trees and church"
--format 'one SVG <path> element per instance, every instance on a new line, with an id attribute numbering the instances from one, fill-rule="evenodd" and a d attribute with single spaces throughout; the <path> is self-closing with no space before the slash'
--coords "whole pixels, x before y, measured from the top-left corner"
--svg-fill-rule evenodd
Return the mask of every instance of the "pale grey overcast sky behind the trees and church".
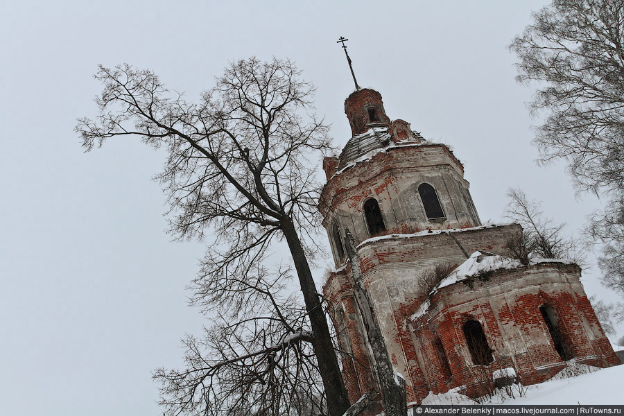
<path id="1" fill-rule="evenodd" d="M 180 338 L 205 323 L 184 290 L 202 244 L 170 241 L 150 180 L 163 153 L 128 139 L 83 154 L 73 132 L 96 114 L 98 63 L 152 69 L 195 98 L 231 60 L 288 57 L 344 146 L 343 35 L 390 119 L 453 147 L 483 221 L 519 186 L 572 231 L 598 202 L 575 198 L 562 164 L 535 164 L 533 88 L 515 83 L 506 49 L 543 3 L 2 2 L 1 413 L 160 415 L 150 372 L 179 366 Z M 616 300 L 597 277 L 584 274 L 587 293 Z"/>

